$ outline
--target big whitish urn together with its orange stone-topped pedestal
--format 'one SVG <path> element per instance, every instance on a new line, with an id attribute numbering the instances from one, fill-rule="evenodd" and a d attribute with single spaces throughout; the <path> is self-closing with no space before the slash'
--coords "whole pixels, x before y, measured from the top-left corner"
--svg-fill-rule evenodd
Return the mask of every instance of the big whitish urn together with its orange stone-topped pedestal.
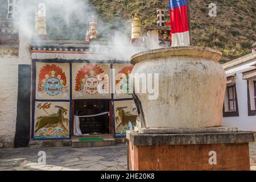
<path id="1" fill-rule="evenodd" d="M 143 128 L 127 133 L 130 170 L 250 170 L 254 134 L 221 127 L 226 75 L 220 59 L 221 52 L 193 46 L 131 57 L 133 75 L 159 74 L 159 96 L 133 85 Z"/>

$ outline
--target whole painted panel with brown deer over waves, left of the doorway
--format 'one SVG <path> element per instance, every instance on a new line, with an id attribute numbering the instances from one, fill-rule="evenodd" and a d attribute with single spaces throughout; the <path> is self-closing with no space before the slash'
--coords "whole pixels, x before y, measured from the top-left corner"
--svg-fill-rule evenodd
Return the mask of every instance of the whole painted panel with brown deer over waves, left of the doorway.
<path id="1" fill-rule="evenodd" d="M 69 102 L 35 102 L 34 139 L 69 138 Z"/>

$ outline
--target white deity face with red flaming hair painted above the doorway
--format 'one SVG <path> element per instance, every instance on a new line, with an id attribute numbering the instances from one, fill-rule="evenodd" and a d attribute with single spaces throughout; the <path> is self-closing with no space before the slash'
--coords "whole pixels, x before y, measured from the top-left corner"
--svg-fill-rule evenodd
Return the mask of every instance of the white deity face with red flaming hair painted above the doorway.
<path id="1" fill-rule="evenodd" d="M 76 87 L 78 92 L 76 97 L 84 95 L 93 96 L 96 94 L 106 94 L 109 92 L 109 78 L 104 70 L 96 64 L 86 64 L 79 69 L 76 75 Z"/>

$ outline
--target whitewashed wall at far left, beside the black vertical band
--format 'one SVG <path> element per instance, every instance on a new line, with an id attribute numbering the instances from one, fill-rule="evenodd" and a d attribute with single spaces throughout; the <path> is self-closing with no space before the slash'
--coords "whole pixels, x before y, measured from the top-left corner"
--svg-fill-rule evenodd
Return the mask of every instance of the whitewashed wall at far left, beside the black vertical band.
<path id="1" fill-rule="evenodd" d="M 0 56 L 0 148 L 14 146 L 19 64 L 31 64 L 30 40 L 22 32 L 19 58 Z"/>

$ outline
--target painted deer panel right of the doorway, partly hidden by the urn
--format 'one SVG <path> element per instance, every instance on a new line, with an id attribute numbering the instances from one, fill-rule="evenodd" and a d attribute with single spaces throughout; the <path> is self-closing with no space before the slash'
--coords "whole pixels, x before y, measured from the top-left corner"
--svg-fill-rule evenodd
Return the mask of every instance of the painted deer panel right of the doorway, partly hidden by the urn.
<path id="1" fill-rule="evenodd" d="M 115 136 L 125 137 L 126 130 L 129 130 L 129 121 L 136 126 L 137 108 L 133 100 L 114 101 L 115 114 Z"/>

